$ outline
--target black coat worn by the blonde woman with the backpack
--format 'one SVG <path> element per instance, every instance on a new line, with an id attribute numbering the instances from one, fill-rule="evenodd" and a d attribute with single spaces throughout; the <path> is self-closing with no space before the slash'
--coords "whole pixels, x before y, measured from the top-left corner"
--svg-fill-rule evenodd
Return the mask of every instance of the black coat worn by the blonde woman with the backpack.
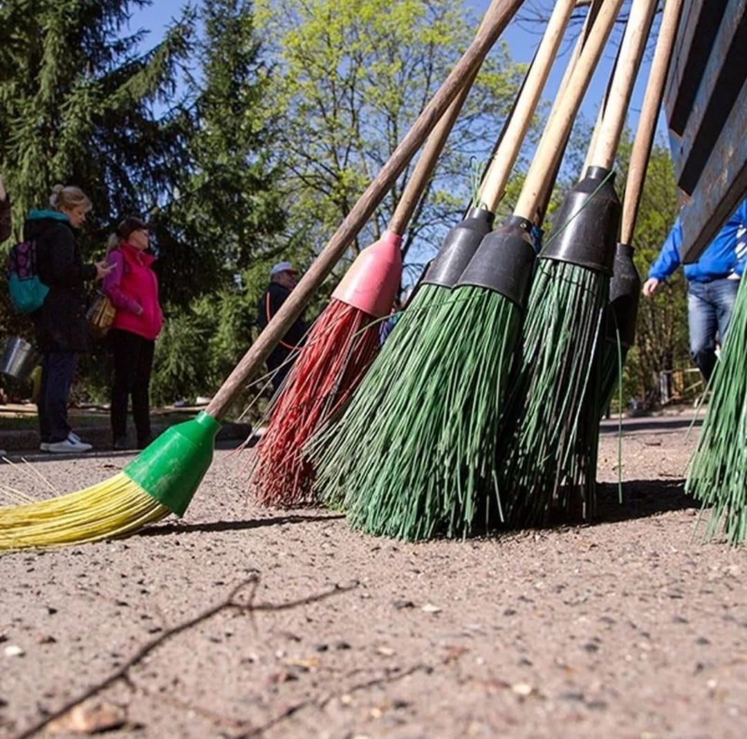
<path id="1" fill-rule="evenodd" d="M 32 211 L 23 238 L 37 242 L 37 269 L 49 293 L 31 314 L 42 351 L 85 352 L 91 347 L 84 282 L 96 278 L 96 265 L 84 265 L 67 220 Z"/>

